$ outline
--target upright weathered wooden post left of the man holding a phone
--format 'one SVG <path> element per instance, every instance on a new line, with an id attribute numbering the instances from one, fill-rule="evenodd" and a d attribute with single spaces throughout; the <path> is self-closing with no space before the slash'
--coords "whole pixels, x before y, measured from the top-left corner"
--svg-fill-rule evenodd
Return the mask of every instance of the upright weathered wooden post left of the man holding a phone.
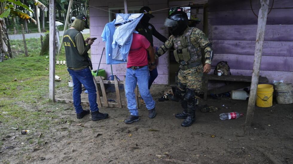
<path id="1" fill-rule="evenodd" d="M 55 101 L 55 54 L 56 54 L 56 27 L 55 27 L 55 2 L 49 0 L 49 99 Z"/>

